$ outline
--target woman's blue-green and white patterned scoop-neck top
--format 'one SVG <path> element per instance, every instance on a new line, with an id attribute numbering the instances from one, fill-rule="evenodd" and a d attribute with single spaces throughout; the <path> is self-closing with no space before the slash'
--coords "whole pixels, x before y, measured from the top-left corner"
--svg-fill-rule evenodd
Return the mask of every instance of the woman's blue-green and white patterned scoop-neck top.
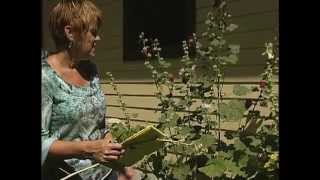
<path id="1" fill-rule="evenodd" d="M 104 137 L 106 104 L 99 84 L 96 66 L 91 69 L 90 83 L 77 87 L 65 82 L 47 63 L 47 55 L 42 57 L 42 122 L 41 122 L 41 165 L 54 166 L 47 157 L 49 147 L 55 140 L 97 140 Z M 74 171 L 95 164 L 91 159 L 64 160 Z M 52 169 L 52 167 L 50 167 Z M 49 169 L 50 169 L 49 168 Z M 53 167 L 59 171 L 62 167 Z M 47 168 L 48 169 L 48 168 Z M 102 179 L 111 169 L 100 165 L 80 173 L 80 179 Z M 66 169 L 58 172 L 65 173 Z M 51 170 L 49 170 L 51 172 Z M 69 172 L 70 173 L 70 172 Z M 67 173 L 64 174 L 66 176 Z M 55 176 L 55 175 L 50 175 Z M 46 177 L 44 177 L 46 179 Z M 53 177 L 50 177 L 54 179 Z M 57 177 L 58 178 L 58 177 Z"/>

